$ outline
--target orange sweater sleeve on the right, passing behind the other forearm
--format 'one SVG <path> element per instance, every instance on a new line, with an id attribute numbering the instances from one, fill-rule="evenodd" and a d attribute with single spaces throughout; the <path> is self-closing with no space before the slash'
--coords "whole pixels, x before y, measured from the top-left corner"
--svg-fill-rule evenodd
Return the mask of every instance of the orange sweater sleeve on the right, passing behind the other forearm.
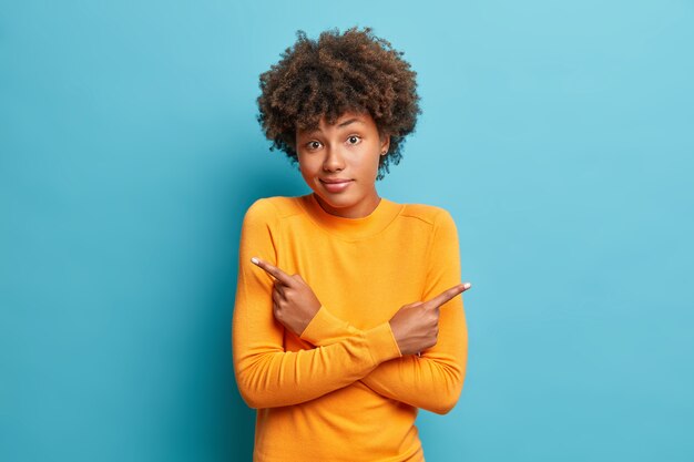
<path id="1" fill-rule="evenodd" d="M 422 300 L 460 283 L 460 254 L 456 224 L 446 211 L 435 223 Z M 359 335 L 359 330 L 322 307 L 302 333 L 316 346 Z M 458 402 L 465 380 L 468 331 L 462 295 L 440 308 L 436 346 L 421 357 L 407 355 L 381 363 L 361 379 L 377 393 L 436 413 L 449 412 Z"/>

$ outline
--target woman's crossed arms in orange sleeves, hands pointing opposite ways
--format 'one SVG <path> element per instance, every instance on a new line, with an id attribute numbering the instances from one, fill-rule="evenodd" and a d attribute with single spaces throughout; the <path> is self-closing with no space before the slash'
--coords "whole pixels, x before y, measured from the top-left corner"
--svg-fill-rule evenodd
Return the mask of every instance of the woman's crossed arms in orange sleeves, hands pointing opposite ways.
<path id="1" fill-rule="evenodd" d="M 431 260 L 450 261 L 452 254 L 455 264 L 428 269 L 427 301 L 407 305 L 390 321 L 360 330 L 309 296 L 294 297 L 300 301 L 294 309 L 286 298 L 302 291 L 299 281 L 308 287 L 300 276 L 286 275 L 267 261 L 259 260 L 259 267 L 251 263 L 255 255 L 276 255 L 269 236 L 272 224 L 254 207 L 242 228 L 233 327 L 234 369 L 246 403 L 252 408 L 297 404 L 361 381 L 386 398 L 437 413 L 450 411 L 462 389 L 467 362 L 462 299 L 456 297 L 465 288 L 448 287 L 460 280 L 452 218 L 447 214 L 442 217 Z M 309 287 L 308 291 L 313 294 Z M 304 288 L 304 295 L 308 291 Z M 313 308 L 302 314 L 307 306 Z M 294 316 L 296 312 L 299 315 Z M 429 336 L 421 335 L 431 327 L 432 318 L 433 342 L 430 329 Z M 410 321 L 409 330 L 402 329 L 406 321 Z M 425 324 L 428 326 L 422 328 Z M 315 348 L 285 351 L 285 329 Z"/>

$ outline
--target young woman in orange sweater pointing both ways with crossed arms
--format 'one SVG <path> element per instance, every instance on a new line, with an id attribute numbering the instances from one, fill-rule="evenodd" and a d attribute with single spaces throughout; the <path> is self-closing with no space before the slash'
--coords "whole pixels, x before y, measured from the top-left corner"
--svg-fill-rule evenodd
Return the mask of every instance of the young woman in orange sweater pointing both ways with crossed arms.
<path id="1" fill-rule="evenodd" d="M 232 333 L 255 461 L 423 461 L 418 408 L 460 396 L 453 219 L 376 191 L 420 113 L 401 54 L 369 28 L 299 31 L 261 75 L 258 121 L 312 193 L 261 198 L 243 222 Z"/>

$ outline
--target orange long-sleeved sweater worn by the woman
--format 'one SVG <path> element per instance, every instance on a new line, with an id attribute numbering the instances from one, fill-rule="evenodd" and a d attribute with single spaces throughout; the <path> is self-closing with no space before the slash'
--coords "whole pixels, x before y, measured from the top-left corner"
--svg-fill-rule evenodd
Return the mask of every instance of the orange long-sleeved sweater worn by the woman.
<path id="1" fill-rule="evenodd" d="M 273 317 L 261 257 L 299 274 L 322 302 L 300 337 Z M 423 461 L 417 408 L 446 413 L 465 379 L 462 296 L 441 307 L 438 343 L 402 356 L 388 320 L 459 284 L 450 214 L 381 198 L 364 218 L 313 194 L 256 201 L 244 217 L 233 320 L 234 371 L 257 408 L 254 461 Z"/>

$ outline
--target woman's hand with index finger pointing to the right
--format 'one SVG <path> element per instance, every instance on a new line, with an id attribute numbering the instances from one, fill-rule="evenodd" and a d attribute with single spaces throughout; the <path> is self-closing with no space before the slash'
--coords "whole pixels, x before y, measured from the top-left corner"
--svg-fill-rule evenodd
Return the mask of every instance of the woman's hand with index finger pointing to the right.
<path id="1" fill-rule="evenodd" d="M 439 308 L 470 288 L 459 284 L 429 301 L 402 306 L 390 319 L 390 329 L 402 355 L 415 355 L 436 345 L 439 335 Z"/>

